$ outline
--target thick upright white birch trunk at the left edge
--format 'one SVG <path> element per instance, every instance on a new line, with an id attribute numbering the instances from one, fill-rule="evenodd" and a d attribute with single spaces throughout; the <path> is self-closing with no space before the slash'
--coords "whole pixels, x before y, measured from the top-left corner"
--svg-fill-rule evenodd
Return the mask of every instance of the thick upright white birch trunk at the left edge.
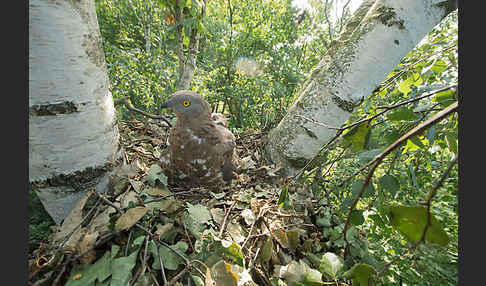
<path id="1" fill-rule="evenodd" d="M 118 140 L 93 0 L 29 0 L 29 181 L 57 224 L 106 190 Z"/>

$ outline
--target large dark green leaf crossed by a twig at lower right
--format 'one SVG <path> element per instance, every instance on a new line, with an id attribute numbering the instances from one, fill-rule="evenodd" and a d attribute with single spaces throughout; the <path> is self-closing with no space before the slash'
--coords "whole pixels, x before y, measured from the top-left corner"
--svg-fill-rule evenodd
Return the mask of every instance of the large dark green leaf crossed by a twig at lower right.
<path id="1" fill-rule="evenodd" d="M 420 240 L 427 224 L 426 207 L 392 206 L 389 207 L 387 215 L 391 226 L 400 231 L 408 241 L 417 243 Z M 449 236 L 432 214 L 430 214 L 430 223 L 425 240 L 446 246 L 450 240 Z"/>

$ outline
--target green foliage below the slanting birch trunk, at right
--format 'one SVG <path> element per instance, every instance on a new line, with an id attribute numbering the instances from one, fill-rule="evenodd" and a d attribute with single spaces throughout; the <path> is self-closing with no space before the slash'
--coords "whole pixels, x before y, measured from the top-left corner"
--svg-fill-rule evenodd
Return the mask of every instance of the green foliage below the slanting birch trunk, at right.
<path id="1" fill-rule="evenodd" d="M 304 182 L 314 186 L 322 184 L 322 190 L 329 194 L 334 215 L 321 214 L 321 221 L 326 222 L 322 226 L 332 226 L 331 230 L 323 229 L 329 247 L 342 249 L 346 245 L 341 226 L 367 174 L 356 175 L 356 170 L 413 127 L 457 101 L 457 80 L 457 13 L 454 12 L 353 113 L 343 127 L 341 143 L 324 151 L 327 163 L 319 170 L 324 172 L 335 162 L 332 168 L 322 177 L 312 173 L 302 176 Z M 362 123 L 346 129 L 360 120 Z M 452 114 L 409 138 L 385 159 L 350 213 L 351 227 L 346 235 L 356 228 L 366 233 L 366 239 L 358 244 L 356 240 L 350 241 L 347 265 L 366 263 L 379 273 L 393 261 L 384 273 L 375 275 L 374 279 L 385 285 L 457 284 L 457 168 L 452 167 L 446 174 L 442 187 L 431 200 L 432 223 L 426 242 L 416 245 L 428 218 L 423 205 L 457 155 L 457 144 L 457 114 Z M 349 178 L 347 183 L 346 178 Z M 407 215 L 406 210 L 410 211 Z M 397 213 L 393 215 L 390 211 Z M 402 215 L 407 218 L 399 223 Z M 429 243 L 433 241 L 443 248 Z M 400 255 L 404 256 L 398 258 Z M 431 258 L 427 263 L 424 255 Z M 440 258 L 432 258 L 433 255 Z"/>

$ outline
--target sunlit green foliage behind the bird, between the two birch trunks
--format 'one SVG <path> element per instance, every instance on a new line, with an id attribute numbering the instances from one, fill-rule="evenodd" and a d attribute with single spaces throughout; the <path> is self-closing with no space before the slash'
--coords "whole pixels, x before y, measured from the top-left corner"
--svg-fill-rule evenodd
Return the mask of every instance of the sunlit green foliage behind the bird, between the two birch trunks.
<path id="1" fill-rule="evenodd" d="M 193 2 L 200 1 L 186 5 Z M 178 24 L 171 19 L 171 3 L 96 1 L 114 98 L 130 96 L 135 107 L 155 114 L 179 78 Z M 271 128 L 326 52 L 323 40 L 328 42 L 329 35 L 322 28 L 330 22 L 319 12 L 323 4 L 315 2 L 315 9 L 305 13 L 291 0 L 207 5 L 204 19 L 194 18 L 201 39 L 192 89 L 229 115 L 231 128 Z M 346 11 L 340 27 L 349 17 Z M 184 27 L 194 25 L 190 20 Z M 118 112 L 121 118 L 128 115 L 121 108 Z"/>

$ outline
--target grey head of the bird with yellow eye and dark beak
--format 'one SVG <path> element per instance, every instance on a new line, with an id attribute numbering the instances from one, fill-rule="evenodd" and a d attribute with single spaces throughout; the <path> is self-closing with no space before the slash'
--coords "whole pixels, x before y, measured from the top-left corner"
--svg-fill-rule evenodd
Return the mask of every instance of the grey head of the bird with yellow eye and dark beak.
<path id="1" fill-rule="evenodd" d="M 186 120 L 211 116 L 209 103 L 202 96 L 190 90 L 174 92 L 170 99 L 162 103 L 160 107 L 170 108 L 176 112 L 177 117 Z"/>

